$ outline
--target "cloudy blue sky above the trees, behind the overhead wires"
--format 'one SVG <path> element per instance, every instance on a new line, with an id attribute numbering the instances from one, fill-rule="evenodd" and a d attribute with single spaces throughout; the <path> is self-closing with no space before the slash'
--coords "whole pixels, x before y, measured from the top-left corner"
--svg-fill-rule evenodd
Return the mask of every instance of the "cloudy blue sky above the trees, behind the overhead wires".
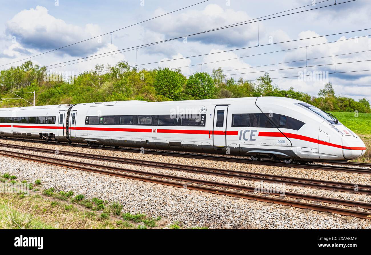
<path id="1" fill-rule="evenodd" d="M 160 0 L 125 0 L 125 1 L 3 1 L 0 16 L 0 65 L 18 61 L 38 53 L 59 48 L 89 37 L 111 32 L 160 14 L 171 12 L 201 0 L 194 1 L 160 1 Z M 292 14 L 259 22 L 259 44 L 265 45 L 287 40 L 295 40 L 332 33 L 341 33 L 352 30 L 371 28 L 371 3 L 367 0 L 357 0 L 350 3 L 339 4 L 347 0 L 337 0 L 335 6 L 318 10 Z M 39 65 L 52 65 L 59 62 L 110 52 L 111 50 L 135 47 L 145 43 L 157 42 L 178 36 L 201 32 L 216 27 L 255 19 L 276 12 L 312 4 L 314 0 L 209 0 L 197 6 L 145 22 L 128 29 L 114 32 L 112 36 L 106 35 L 98 42 L 97 39 L 79 43 L 62 50 L 47 53 L 31 60 Z M 334 3 L 334 0 L 308 6 L 291 12 L 313 9 Z M 289 13 L 289 12 L 287 12 Z M 286 14 L 286 13 L 285 13 Z M 106 56 L 91 61 L 76 63 L 65 67 L 55 67 L 52 71 L 69 71 L 78 74 L 91 70 L 97 63 L 114 65 L 118 61 L 128 61 L 130 65 L 148 62 L 164 61 L 174 58 L 184 58 L 151 65 L 157 66 L 196 65 L 200 63 L 220 61 L 242 56 L 256 55 L 276 50 L 303 47 L 317 43 L 344 40 L 352 37 L 371 35 L 371 30 L 347 33 L 336 36 L 320 37 L 310 40 L 300 40 L 290 43 L 259 46 L 250 49 L 236 50 L 213 55 L 188 58 L 189 56 L 255 46 L 257 43 L 258 23 L 250 23 L 216 32 L 205 33 L 199 36 L 165 42 L 129 52 Z M 371 59 L 371 51 L 355 53 L 307 61 L 307 65 L 327 65 L 305 68 L 305 61 L 285 63 L 264 67 L 280 62 L 303 60 L 305 58 L 318 58 L 335 56 L 344 53 L 371 50 L 371 36 L 328 43 L 320 46 L 311 46 L 297 50 L 288 50 L 280 53 L 265 54 L 230 61 L 203 64 L 202 71 L 211 72 L 213 68 L 221 67 L 232 77 L 242 76 L 243 79 L 254 80 L 267 70 L 273 78 L 298 76 L 311 71 L 334 72 L 335 65 L 330 63 L 343 63 L 364 61 Z M 306 57 L 307 56 L 307 57 Z M 371 61 L 348 64 L 336 64 L 336 72 L 358 71 L 371 69 Z M 14 65 L 14 64 L 13 64 Z M 10 65 L 1 68 L 9 68 Z M 58 66 L 58 65 L 57 65 Z M 287 69 L 300 67 L 296 69 Z M 245 69 L 241 69 L 245 68 Z M 236 70 L 241 69 L 241 70 Z M 201 65 L 181 68 L 184 75 L 201 71 Z M 250 72 L 250 73 L 246 73 Z M 236 73 L 245 73 L 236 75 Z M 371 71 L 338 73 L 324 75 L 323 79 L 303 80 L 298 78 L 274 79 L 281 88 L 294 87 L 316 95 L 326 81 L 332 82 L 336 94 L 345 95 L 354 99 L 366 97 L 371 100 Z"/>

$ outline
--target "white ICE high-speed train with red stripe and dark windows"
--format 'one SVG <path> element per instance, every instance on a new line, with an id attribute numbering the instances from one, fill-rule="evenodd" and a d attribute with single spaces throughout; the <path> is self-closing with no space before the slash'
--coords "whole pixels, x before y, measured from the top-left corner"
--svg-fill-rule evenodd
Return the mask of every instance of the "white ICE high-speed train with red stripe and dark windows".
<path id="1" fill-rule="evenodd" d="M 226 153 L 288 164 L 349 160 L 366 150 L 331 114 L 282 97 L 3 108 L 0 136 Z"/>

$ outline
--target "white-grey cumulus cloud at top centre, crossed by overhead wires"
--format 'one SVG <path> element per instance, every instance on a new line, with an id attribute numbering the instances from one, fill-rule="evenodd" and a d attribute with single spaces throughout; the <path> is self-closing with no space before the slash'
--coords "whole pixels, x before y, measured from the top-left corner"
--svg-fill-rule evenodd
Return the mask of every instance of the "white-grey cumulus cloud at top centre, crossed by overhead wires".
<path id="1" fill-rule="evenodd" d="M 155 15 L 164 14 L 165 11 L 157 9 Z M 183 37 L 195 32 L 227 26 L 252 18 L 243 11 L 232 9 L 224 10 L 217 4 L 209 4 L 203 10 L 188 10 L 181 14 L 171 14 L 161 19 L 145 23 L 145 28 L 170 37 Z M 263 25 L 260 29 L 263 31 Z M 257 23 L 235 26 L 228 29 L 217 30 L 187 38 L 188 42 L 202 42 L 225 46 L 243 46 L 250 40 L 257 40 Z"/>

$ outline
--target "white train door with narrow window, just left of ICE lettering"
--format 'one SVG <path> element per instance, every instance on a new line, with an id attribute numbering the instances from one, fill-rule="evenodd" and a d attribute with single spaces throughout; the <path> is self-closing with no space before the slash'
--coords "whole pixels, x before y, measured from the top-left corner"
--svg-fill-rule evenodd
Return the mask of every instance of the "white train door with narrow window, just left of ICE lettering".
<path id="1" fill-rule="evenodd" d="M 228 105 L 217 105 L 214 109 L 213 144 L 227 146 L 227 111 Z"/>

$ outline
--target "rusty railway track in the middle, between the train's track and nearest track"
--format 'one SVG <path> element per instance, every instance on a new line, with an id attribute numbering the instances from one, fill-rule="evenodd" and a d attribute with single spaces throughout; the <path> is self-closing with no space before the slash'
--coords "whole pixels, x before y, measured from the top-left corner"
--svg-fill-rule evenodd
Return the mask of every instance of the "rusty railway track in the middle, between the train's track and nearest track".
<path id="1" fill-rule="evenodd" d="M 20 150 L 36 151 L 40 153 L 49 153 L 49 154 L 56 153 L 55 150 L 46 149 L 46 148 L 35 148 L 35 147 L 30 147 L 30 146 L 18 146 L 18 145 L 3 144 L 3 143 L 0 143 L 0 146 L 7 147 L 7 148 L 20 149 Z M 296 186 L 305 186 L 305 187 L 312 187 L 312 188 L 326 189 L 326 190 L 336 190 L 336 191 L 341 191 L 341 192 L 371 194 L 371 185 L 365 185 L 365 184 L 334 182 L 334 181 L 328 181 L 328 180 L 316 180 L 316 179 L 290 177 L 290 176 L 278 176 L 278 175 L 273 175 L 273 174 L 253 173 L 253 172 L 227 170 L 227 169 L 215 169 L 211 167 L 199 167 L 199 166 L 188 166 L 188 165 L 185 166 L 185 165 L 174 164 L 174 163 L 163 163 L 163 162 L 148 161 L 148 160 L 137 160 L 137 159 L 132 159 L 132 158 L 102 156 L 102 155 L 96 155 L 96 154 L 78 153 L 78 152 L 73 152 L 73 151 L 58 150 L 58 154 L 64 155 L 64 156 L 88 158 L 92 160 L 104 160 L 104 161 L 121 163 L 121 164 L 132 164 L 132 165 L 137 165 L 137 166 L 156 167 L 156 168 L 176 170 L 176 171 L 186 171 L 186 172 L 191 172 L 191 173 L 209 174 L 209 175 L 217 175 L 217 176 L 223 176 L 223 177 L 233 177 L 233 178 L 238 178 L 238 179 L 265 181 L 265 182 L 273 182 L 273 183 L 285 182 L 286 184 L 291 184 L 291 185 L 296 185 Z"/>

